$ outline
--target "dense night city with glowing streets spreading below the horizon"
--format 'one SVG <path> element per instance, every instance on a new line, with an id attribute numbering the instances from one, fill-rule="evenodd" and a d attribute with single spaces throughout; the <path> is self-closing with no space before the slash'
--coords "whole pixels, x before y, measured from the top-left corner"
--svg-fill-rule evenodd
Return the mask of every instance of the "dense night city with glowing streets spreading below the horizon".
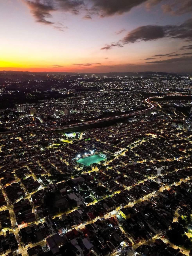
<path id="1" fill-rule="evenodd" d="M 190 255 L 191 77 L 17 76 L 0 87 L 1 255 Z"/>

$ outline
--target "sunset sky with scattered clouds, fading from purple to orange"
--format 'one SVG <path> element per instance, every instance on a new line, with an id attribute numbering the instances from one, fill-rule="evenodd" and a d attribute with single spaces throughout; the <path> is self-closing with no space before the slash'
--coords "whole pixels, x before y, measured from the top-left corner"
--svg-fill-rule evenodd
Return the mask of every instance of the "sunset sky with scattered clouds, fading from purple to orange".
<path id="1" fill-rule="evenodd" d="M 192 72 L 192 0 L 0 0 L 0 71 Z"/>

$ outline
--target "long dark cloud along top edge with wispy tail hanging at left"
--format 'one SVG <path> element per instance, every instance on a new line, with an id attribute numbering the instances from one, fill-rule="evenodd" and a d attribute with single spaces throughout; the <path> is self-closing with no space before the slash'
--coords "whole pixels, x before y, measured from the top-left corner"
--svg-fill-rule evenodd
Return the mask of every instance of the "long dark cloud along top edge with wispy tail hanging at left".
<path id="1" fill-rule="evenodd" d="M 91 20 L 92 15 L 101 17 L 123 14 L 142 3 L 154 0 L 21 0 L 30 8 L 36 22 L 51 25 L 62 30 L 62 26 L 47 20 L 52 17 L 53 11 L 70 12 L 78 15 L 80 11 L 86 11 L 83 19 Z M 155 0 L 161 1 L 161 0 Z M 120 31 L 121 33 L 124 30 Z"/>

